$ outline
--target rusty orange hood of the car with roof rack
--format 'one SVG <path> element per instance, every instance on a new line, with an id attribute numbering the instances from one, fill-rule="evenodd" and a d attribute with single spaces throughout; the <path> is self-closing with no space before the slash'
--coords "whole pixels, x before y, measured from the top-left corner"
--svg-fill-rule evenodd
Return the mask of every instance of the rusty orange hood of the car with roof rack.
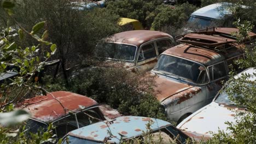
<path id="1" fill-rule="evenodd" d="M 159 101 L 171 97 L 172 95 L 181 93 L 193 86 L 172 80 L 170 77 L 158 75 L 155 78 L 155 95 Z"/>

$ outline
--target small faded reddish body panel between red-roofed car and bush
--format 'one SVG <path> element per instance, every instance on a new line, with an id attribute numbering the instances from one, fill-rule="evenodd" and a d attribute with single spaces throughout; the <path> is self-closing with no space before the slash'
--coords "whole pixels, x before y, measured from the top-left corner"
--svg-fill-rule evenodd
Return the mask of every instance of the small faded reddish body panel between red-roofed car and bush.
<path id="1" fill-rule="evenodd" d="M 100 110 L 102 111 L 103 115 L 110 118 L 110 119 L 113 119 L 113 118 L 117 118 L 117 117 L 120 117 L 122 116 L 118 110 L 115 110 L 115 109 L 112 109 L 109 105 L 105 105 L 105 104 L 102 104 L 100 106 L 98 106 L 100 108 Z"/>

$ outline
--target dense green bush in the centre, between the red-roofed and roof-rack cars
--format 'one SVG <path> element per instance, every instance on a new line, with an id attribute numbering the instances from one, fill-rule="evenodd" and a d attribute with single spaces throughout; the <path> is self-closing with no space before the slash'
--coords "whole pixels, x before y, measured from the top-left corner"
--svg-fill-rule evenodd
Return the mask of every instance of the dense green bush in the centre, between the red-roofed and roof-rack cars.
<path id="1" fill-rule="evenodd" d="M 88 67 L 73 71 L 68 91 L 86 95 L 118 109 L 124 115 L 166 119 L 160 102 L 153 96 L 153 78 L 143 79 L 144 74 L 132 74 L 125 68 Z M 63 87 L 63 83 L 53 83 Z"/>

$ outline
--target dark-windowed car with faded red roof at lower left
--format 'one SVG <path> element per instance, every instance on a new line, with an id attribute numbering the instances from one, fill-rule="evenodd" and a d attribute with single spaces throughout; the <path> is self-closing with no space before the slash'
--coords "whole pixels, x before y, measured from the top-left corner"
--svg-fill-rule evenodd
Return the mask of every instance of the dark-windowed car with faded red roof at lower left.
<path id="1" fill-rule="evenodd" d="M 56 134 L 57 139 L 71 130 L 106 119 L 95 100 L 64 91 L 27 99 L 18 107 L 32 115 L 26 122 L 27 131 L 37 133 L 40 128 L 46 130 L 49 123 L 53 123 L 55 127 L 53 133 Z M 70 112 L 73 114 L 70 115 Z"/>

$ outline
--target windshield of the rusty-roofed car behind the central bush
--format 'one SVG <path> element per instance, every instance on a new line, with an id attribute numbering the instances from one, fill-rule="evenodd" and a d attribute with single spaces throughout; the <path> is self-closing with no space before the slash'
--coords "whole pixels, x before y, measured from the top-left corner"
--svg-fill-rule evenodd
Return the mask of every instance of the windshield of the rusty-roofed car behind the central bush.
<path id="1" fill-rule="evenodd" d="M 137 49 L 137 47 L 133 45 L 117 43 L 103 43 L 99 44 L 97 48 L 102 52 L 98 53 L 100 57 L 123 61 L 134 61 Z"/>

